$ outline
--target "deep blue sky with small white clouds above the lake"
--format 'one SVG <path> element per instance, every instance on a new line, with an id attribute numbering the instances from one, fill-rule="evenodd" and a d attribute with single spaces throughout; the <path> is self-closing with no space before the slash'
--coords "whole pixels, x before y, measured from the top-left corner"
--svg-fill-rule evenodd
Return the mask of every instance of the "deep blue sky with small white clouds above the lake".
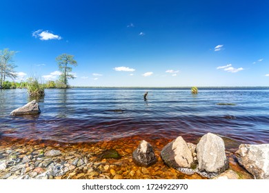
<path id="1" fill-rule="evenodd" d="M 1 1 L 19 79 L 74 55 L 88 86 L 268 86 L 269 1 Z"/>

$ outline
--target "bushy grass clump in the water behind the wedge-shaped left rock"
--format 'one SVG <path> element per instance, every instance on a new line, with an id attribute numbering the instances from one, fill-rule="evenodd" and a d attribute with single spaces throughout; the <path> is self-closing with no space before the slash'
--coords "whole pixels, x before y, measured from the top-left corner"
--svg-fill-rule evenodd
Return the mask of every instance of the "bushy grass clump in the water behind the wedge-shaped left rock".
<path id="1" fill-rule="evenodd" d="M 27 81 L 26 88 L 29 96 L 43 97 L 45 96 L 45 89 L 37 78 L 30 78 Z"/>

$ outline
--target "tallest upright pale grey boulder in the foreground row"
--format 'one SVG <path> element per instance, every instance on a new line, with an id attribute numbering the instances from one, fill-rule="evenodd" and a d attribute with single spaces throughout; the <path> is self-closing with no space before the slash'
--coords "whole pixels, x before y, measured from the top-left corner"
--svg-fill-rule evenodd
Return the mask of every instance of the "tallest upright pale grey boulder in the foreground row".
<path id="1" fill-rule="evenodd" d="M 197 144 L 197 160 L 199 172 L 220 174 L 227 170 L 229 163 L 223 139 L 212 133 L 203 135 Z"/>

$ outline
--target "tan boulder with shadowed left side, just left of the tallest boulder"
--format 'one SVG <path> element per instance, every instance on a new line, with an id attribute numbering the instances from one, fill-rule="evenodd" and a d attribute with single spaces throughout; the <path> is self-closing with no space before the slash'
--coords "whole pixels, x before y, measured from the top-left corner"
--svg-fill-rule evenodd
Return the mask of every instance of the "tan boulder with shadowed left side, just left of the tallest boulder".
<path id="1" fill-rule="evenodd" d="M 168 143 L 161 150 L 161 159 L 170 167 L 191 167 L 193 162 L 192 152 L 184 139 L 179 136 L 174 141 Z"/>

